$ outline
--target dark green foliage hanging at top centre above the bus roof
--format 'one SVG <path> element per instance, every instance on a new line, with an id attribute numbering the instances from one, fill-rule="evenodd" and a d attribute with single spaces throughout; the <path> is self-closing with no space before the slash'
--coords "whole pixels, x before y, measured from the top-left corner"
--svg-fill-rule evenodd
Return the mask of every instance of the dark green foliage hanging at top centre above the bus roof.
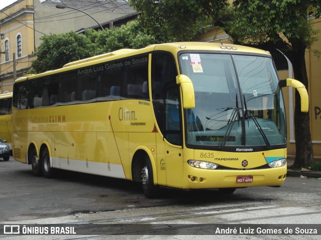
<path id="1" fill-rule="evenodd" d="M 129 0 L 143 27 L 164 41 L 194 38 L 212 25 L 226 0 Z"/>

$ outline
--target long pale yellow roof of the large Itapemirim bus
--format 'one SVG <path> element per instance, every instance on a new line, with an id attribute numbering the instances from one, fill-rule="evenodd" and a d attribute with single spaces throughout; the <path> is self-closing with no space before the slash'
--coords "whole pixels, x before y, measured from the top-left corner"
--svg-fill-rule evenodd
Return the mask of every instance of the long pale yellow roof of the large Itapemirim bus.
<path id="1" fill-rule="evenodd" d="M 61 71 L 72 70 L 79 67 L 86 67 L 92 64 L 98 64 L 100 62 L 104 62 L 107 60 L 118 59 L 119 57 L 128 57 L 133 54 L 143 54 L 147 52 L 151 52 L 154 50 L 163 50 L 169 51 L 173 53 L 173 55 L 177 55 L 179 51 L 182 50 L 201 50 L 201 51 L 222 51 L 222 52 L 243 52 L 243 53 L 254 53 L 254 54 L 265 54 L 270 55 L 268 51 L 242 46 L 242 45 L 234 45 L 234 44 L 225 44 L 225 43 L 215 43 L 215 42 L 172 42 L 172 43 L 161 43 L 161 44 L 152 44 L 140 49 L 119 49 L 112 52 L 100 54 L 97 56 L 92 56 L 84 59 L 80 59 L 77 61 L 72 61 L 63 65 L 62 68 L 49 70 L 43 73 L 34 74 L 34 75 L 26 75 L 23 77 L 19 77 L 15 82 L 24 81 L 27 79 L 37 78 L 39 76 L 51 75 L 52 73 L 58 73 Z"/>

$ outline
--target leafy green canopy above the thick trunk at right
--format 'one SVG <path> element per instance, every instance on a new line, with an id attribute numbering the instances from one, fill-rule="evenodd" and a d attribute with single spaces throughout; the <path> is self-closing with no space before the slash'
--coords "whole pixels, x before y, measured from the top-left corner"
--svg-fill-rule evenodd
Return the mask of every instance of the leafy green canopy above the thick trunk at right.
<path id="1" fill-rule="evenodd" d="M 225 12 L 224 29 L 243 44 L 300 41 L 310 48 L 316 40 L 308 18 L 320 16 L 320 0 L 235 0 Z"/>

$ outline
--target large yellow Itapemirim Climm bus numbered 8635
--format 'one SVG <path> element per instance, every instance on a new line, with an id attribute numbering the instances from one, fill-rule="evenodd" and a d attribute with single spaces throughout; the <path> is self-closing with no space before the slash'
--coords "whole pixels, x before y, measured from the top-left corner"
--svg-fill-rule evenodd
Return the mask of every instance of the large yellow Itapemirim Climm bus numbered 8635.
<path id="1" fill-rule="evenodd" d="M 158 187 L 280 186 L 286 120 L 271 55 L 240 45 L 178 42 L 70 62 L 14 83 L 14 158 Z"/>

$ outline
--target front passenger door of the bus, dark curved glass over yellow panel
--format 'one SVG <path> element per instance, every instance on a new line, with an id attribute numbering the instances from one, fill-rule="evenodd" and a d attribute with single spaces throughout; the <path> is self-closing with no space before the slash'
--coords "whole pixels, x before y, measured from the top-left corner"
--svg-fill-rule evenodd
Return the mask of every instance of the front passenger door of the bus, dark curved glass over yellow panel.
<path id="1" fill-rule="evenodd" d="M 151 54 L 151 96 L 157 134 L 157 182 L 181 187 L 183 173 L 182 116 L 175 58 L 168 52 Z"/>

